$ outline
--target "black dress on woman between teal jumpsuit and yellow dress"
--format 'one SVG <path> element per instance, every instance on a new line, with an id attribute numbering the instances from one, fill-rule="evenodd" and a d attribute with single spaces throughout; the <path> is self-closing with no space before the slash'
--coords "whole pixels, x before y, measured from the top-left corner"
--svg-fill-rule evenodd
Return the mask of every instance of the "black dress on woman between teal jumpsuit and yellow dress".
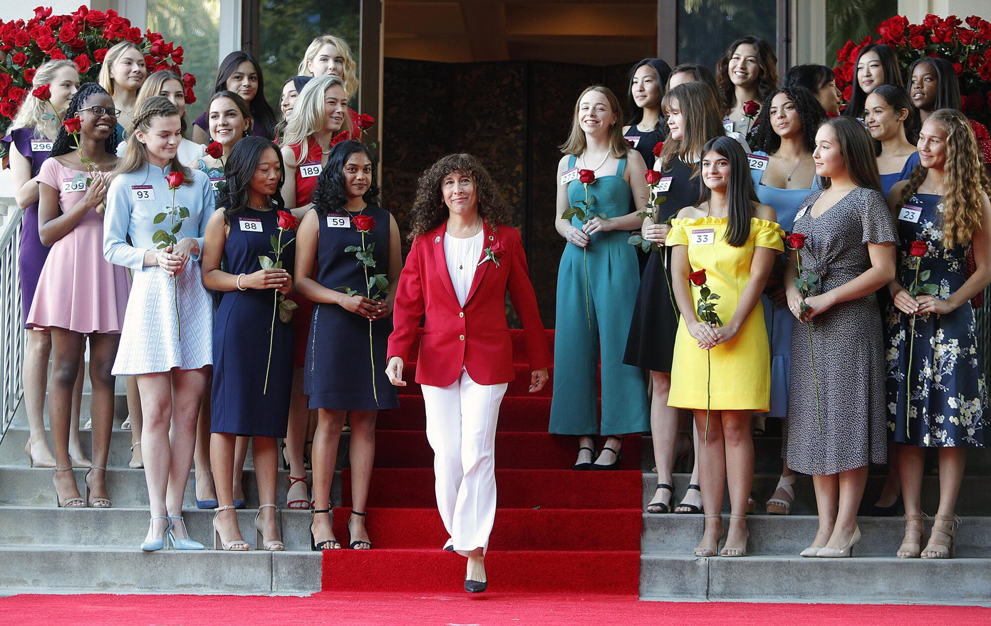
<path id="1" fill-rule="evenodd" d="M 659 221 L 664 222 L 687 206 L 699 202 L 699 177 L 692 178 L 694 169 L 675 158 L 663 172 L 671 176 L 671 187 L 662 193 L 667 198 L 659 208 Z M 664 261 L 661 255 L 664 255 Z M 667 267 L 665 267 L 667 265 Z M 678 333 L 678 314 L 674 294 L 668 289 L 671 281 L 671 251 L 650 253 L 640 278 L 633 319 L 626 339 L 623 363 L 650 369 L 671 371 Z"/>

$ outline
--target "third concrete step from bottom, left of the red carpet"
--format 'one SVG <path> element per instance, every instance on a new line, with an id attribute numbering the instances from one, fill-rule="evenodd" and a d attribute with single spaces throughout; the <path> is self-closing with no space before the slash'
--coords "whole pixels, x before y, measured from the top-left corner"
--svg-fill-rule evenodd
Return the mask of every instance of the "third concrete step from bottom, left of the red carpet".
<path id="1" fill-rule="evenodd" d="M 55 486 L 52 484 L 53 473 L 53 469 L 0 467 L 0 485 L 3 485 L 0 488 L 0 507 L 8 505 L 54 507 Z M 85 488 L 82 481 L 85 473 L 85 469 L 75 470 L 75 481 L 79 486 L 80 493 Z M 288 473 L 286 471 L 279 470 L 278 472 L 275 502 L 279 507 L 285 505 L 285 492 L 289 486 L 289 481 L 286 478 L 287 475 Z M 186 482 L 185 497 L 183 499 L 183 505 L 189 508 L 195 507 L 192 477 L 193 472 L 189 472 L 189 480 Z M 244 487 L 248 506 L 257 507 L 259 504 L 258 485 L 254 470 L 245 470 Z M 144 469 L 108 469 L 107 491 L 115 507 L 146 509 L 148 507 L 148 486 L 145 482 Z M 334 475 L 330 497 L 335 505 L 340 505 L 340 470 Z"/>

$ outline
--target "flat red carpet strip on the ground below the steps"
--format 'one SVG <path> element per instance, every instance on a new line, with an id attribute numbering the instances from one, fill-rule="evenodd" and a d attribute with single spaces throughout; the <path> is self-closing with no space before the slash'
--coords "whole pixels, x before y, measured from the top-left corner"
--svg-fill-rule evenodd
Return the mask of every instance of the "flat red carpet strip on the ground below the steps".
<path id="1" fill-rule="evenodd" d="M 17 626 L 169 625 L 323 626 L 402 624 L 573 626 L 576 624 L 727 624 L 767 626 L 978 626 L 991 609 L 968 606 L 640 602 L 620 598 L 505 596 L 420 597 L 330 594 L 312 597 L 232 595 L 15 595 L 0 598 L 0 624 Z"/>

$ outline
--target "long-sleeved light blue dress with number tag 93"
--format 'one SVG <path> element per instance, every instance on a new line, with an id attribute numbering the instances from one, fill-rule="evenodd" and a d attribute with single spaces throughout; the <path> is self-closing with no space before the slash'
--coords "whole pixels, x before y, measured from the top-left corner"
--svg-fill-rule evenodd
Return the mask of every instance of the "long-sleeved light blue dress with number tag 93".
<path id="1" fill-rule="evenodd" d="M 103 257 L 129 267 L 134 276 L 114 375 L 197 369 L 213 363 L 213 306 L 200 277 L 199 255 L 193 255 L 174 279 L 157 264 L 145 266 L 145 253 L 158 249 L 155 232 L 169 225 L 167 219 L 153 223 L 172 204 L 165 182 L 169 171 L 170 166 L 146 164 L 119 174 L 107 190 Z M 214 209 L 213 189 L 206 174 L 189 171 L 189 184 L 175 190 L 175 206 L 189 210 L 175 237 L 195 239 L 202 251 L 203 233 Z"/>

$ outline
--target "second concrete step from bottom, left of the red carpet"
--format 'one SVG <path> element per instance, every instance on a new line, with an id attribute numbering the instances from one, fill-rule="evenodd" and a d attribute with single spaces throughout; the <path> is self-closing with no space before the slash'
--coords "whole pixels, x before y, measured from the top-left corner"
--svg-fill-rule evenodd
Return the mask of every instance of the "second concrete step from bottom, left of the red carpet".
<path id="1" fill-rule="evenodd" d="M 279 504 L 283 506 L 284 502 Z M 241 536 L 255 549 L 255 515 L 258 509 L 238 511 Z M 183 510 L 189 536 L 207 548 L 213 546 L 212 510 Z M 286 550 L 310 549 L 309 511 L 280 508 L 278 529 Z M 0 547 L 39 548 L 137 548 L 148 532 L 147 508 L 67 509 L 37 506 L 0 506 Z M 343 542 L 347 537 L 341 537 Z"/>

